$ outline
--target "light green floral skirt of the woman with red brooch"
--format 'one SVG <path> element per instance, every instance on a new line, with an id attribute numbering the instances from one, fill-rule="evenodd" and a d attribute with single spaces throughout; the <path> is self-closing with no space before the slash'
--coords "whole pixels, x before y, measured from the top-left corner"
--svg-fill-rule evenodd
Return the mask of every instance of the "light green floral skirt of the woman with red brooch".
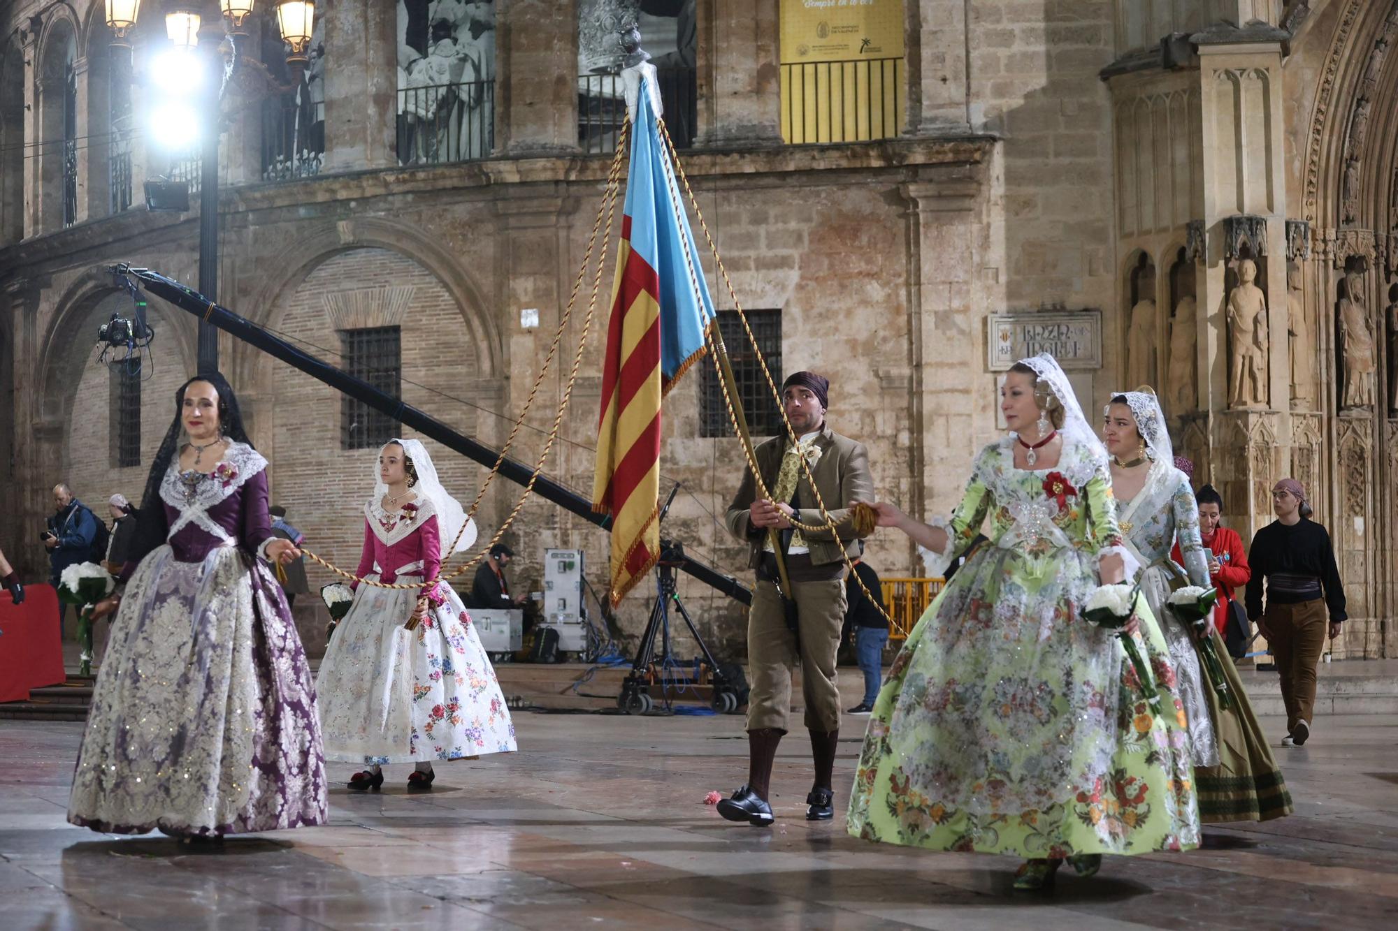
<path id="1" fill-rule="evenodd" d="M 1198 846 L 1183 709 L 1141 698 L 1081 616 L 1093 556 L 984 547 L 917 622 L 864 737 L 847 825 L 865 840 L 1062 857 Z M 1141 646 L 1173 679 L 1153 618 Z"/>

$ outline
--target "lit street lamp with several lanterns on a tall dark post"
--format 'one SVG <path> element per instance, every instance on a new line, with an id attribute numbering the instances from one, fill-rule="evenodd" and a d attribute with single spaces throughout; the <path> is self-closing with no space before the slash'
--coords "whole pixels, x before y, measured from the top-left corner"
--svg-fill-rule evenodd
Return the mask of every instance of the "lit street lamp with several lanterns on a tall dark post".
<path id="1" fill-rule="evenodd" d="M 229 36 L 246 35 L 247 17 L 253 13 L 254 0 L 219 0 L 225 32 Z M 112 29 L 112 45 L 129 46 L 127 34 L 136 28 L 140 15 L 141 0 L 106 0 L 106 25 Z M 303 67 L 310 48 L 310 27 L 315 18 L 316 4 L 308 0 L 282 0 L 277 4 L 277 27 L 281 39 L 291 46 L 287 63 L 292 67 Z M 192 55 L 199 46 L 199 29 L 201 17 L 197 7 L 182 3 L 173 11 L 165 14 L 165 34 L 178 52 Z M 236 53 L 236 46 L 235 46 Z M 229 67 L 236 68 L 240 55 L 232 59 Z M 207 64 L 212 70 L 211 64 Z M 194 68 L 196 71 L 199 67 Z M 182 127 L 193 129 L 190 123 L 199 122 L 199 110 L 206 115 L 197 131 L 203 134 L 203 155 L 200 159 L 200 190 L 199 190 L 199 289 L 210 301 L 218 299 L 218 117 L 222 106 L 224 89 L 218 81 L 203 77 L 208 88 L 200 106 L 190 106 L 189 101 L 166 101 L 158 116 L 162 122 L 159 136 L 178 138 Z M 226 85 L 226 75 L 222 85 Z M 193 84 L 186 85 L 187 92 Z M 176 95 L 178 96 L 178 95 Z M 189 138 L 189 133 L 185 134 Z M 207 373 L 218 369 L 218 330 L 200 322 L 199 324 L 199 372 Z"/>

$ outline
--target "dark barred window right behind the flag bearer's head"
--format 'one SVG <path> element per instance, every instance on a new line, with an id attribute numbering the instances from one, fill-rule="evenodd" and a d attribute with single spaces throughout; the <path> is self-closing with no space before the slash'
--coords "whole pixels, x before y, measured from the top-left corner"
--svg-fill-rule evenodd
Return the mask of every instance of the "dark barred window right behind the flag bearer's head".
<path id="1" fill-rule="evenodd" d="M 768 370 L 772 372 L 772 380 L 780 387 L 781 312 L 744 310 L 744 313 L 762 349 L 762 358 L 766 359 Z M 772 389 L 768 387 L 762 366 L 758 363 L 758 354 L 752 351 L 752 342 L 742 329 L 737 310 L 719 312 L 719 333 L 728 349 L 728 362 L 733 363 L 733 379 L 738 384 L 738 398 L 748 418 L 748 429 L 754 436 L 776 436 L 784 429 L 781 411 L 772 397 Z M 733 436 L 733 424 L 728 422 L 728 408 L 723 403 L 719 375 L 709 361 L 703 363 L 703 394 L 699 407 L 703 436 Z"/>

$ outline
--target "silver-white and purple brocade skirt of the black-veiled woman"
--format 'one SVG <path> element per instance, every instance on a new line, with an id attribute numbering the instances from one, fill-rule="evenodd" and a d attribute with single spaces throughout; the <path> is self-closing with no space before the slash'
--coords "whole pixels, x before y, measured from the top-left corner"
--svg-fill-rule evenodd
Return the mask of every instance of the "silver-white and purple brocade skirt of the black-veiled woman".
<path id="1" fill-rule="evenodd" d="M 326 821 L 310 667 L 266 566 L 233 548 L 136 569 L 92 688 L 69 821 L 140 835 Z"/>

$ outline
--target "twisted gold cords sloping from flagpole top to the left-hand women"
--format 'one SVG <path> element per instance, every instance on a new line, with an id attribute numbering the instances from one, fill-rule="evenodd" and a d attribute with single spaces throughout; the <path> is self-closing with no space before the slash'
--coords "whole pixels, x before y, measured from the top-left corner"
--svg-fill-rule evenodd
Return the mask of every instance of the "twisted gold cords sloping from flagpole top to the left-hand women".
<path id="1" fill-rule="evenodd" d="M 559 345 L 559 342 L 562 340 L 563 331 L 566 330 L 569 319 L 572 317 L 573 306 L 575 306 L 575 303 L 577 301 L 577 292 L 582 288 L 583 278 L 587 274 L 587 266 L 591 261 L 593 249 L 594 249 L 594 246 L 597 243 L 597 232 L 598 232 L 598 229 L 603 228 L 603 217 L 605 215 L 607 225 L 605 225 L 605 232 L 603 233 L 603 247 L 601 247 L 601 252 L 600 252 L 598 259 L 597 259 L 597 274 L 593 277 L 593 291 L 591 291 L 591 296 L 590 296 L 590 299 L 587 302 L 587 315 L 586 315 L 586 317 L 583 320 L 583 333 L 582 333 L 582 337 L 577 341 L 577 351 L 573 354 L 573 368 L 572 368 L 572 372 L 568 376 L 568 386 L 563 390 L 563 400 L 562 400 L 562 403 L 558 407 L 556 415 L 554 417 L 554 426 L 552 426 L 552 429 L 549 429 L 548 439 L 544 443 L 544 450 L 538 456 L 538 461 L 534 466 L 534 471 L 530 475 L 528 484 L 526 484 L 526 486 L 524 486 L 524 492 L 520 495 L 519 500 L 514 503 L 514 507 L 510 510 L 509 517 L 506 517 L 506 520 L 500 524 L 499 530 L 495 531 L 495 535 L 491 538 L 491 541 L 474 558 L 468 559 L 467 562 L 461 563 L 460 566 L 457 566 L 457 568 L 454 568 L 452 570 L 447 570 L 447 569 L 442 568 L 442 569 L 438 570 L 438 575 L 435 577 L 432 577 L 429 580 L 425 580 L 425 582 L 418 582 L 418 583 L 387 583 L 387 582 L 377 582 L 377 580 L 373 580 L 373 579 L 361 579 L 355 573 L 347 572 L 345 569 L 341 569 L 340 566 L 336 566 L 334 563 L 331 563 L 330 561 L 327 561 L 327 559 L 322 558 L 320 555 L 312 552 L 310 549 L 302 549 L 301 551 L 302 554 L 305 554 L 313 562 L 324 566 L 326 569 L 329 569 L 330 572 L 336 573 L 337 576 L 340 576 L 343 579 L 350 579 L 350 580 L 366 584 L 366 586 L 373 586 L 375 589 L 390 589 L 390 590 L 397 590 L 397 591 L 407 591 L 407 590 L 414 590 L 414 589 L 419 590 L 419 589 L 432 587 L 438 582 L 442 582 L 442 580 L 446 580 L 446 579 L 454 579 L 454 577 L 457 577 L 457 576 L 460 576 L 460 575 L 463 575 L 463 573 L 474 569 L 485 558 L 485 554 L 489 552 L 489 548 L 493 547 L 496 542 L 499 542 L 500 538 L 505 535 L 505 531 L 510 528 L 510 524 L 514 523 L 514 519 L 519 516 L 520 510 L 524 507 L 524 502 L 528 500 L 528 496 L 533 493 L 533 491 L 534 491 L 534 482 L 538 479 L 540 474 L 542 474 L 542 471 L 544 471 L 544 463 L 548 460 L 548 454 L 554 449 L 554 442 L 558 439 L 558 431 L 559 431 L 559 428 L 561 428 L 561 425 L 563 422 L 563 414 L 568 411 L 568 404 L 569 404 L 569 401 L 572 400 L 572 396 L 573 396 L 573 386 L 577 382 L 577 372 L 579 372 L 579 369 L 582 366 L 582 361 L 583 361 L 583 349 L 587 345 L 587 337 L 589 337 L 589 333 L 591 331 L 593 317 L 596 316 L 596 312 L 597 312 L 597 295 L 598 295 L 598 292 L 601 289 L 603 271 L 604 271 L 604 268 L 607 266 L 607 252 L 608 252 L 608 247 L 611 245 L 612 219 L 614 219 L 614 215 L 615 215 L 617 194 L 618 194 L 618 190 L 619 190 L 619 186 L 621 186 L 619 185 L 621 168 L 622 168 L 622 165 L 625 162 L 624 152 L 626 151 L 626 140 L 629 137 L 629 130 L 630 130 L 630 123 L 629 122 L 624 123 L 621 134 L 617 137 L 617 151 L 612 154 L 611 171 L 607 175 L 607 187 L 605 187 L 605 190 L 603 193 L 603 201 L 597 207 L 597 219 L 593 222 L 593 233 L 591 233 L 591 238 L 587 242 L 587 253 L 583 257 L 583 264 L 582 264 L 582 268 L 577 273 L 577 280 L 573 282 L 573 291 L 572 291 L 572 295 L 568 299 L 568 308 L 563 310 L 563 316 L 559 319 L 558 329 L 554 331 L 554 341 L 552 341 L 552 344 L 549 347 L 548 355 L 545 356 L 544 365 L 540 369 L 538 376 L 534 379 L 534 387 L 530 390 L 528 398 L 526 400 L 524 407 L 520 410 L 519 418 L 514 421 L 514 428 L 510 431 L 509 439 L 505 442 L 505 446 L 500 449 L 500 454 L 495 459 L 495 466 L 491 468 L 489 474 L 485 478 L 485 482 L 481 485 L 480 493 L 477 493 L 475 500 L 471 502 L 471 507 L 467 512 L 467 519 L 471 519 L 471 517 L 475 516 L 477 509 L 481 506 L 481 500 L 485 498 L 487 489 L 491 486 L 491 482 L 495 479 L 495 475 L 499 472 L 500 466 L 505 463 L 505 459 L 509 454 L 510 446 L 513 446 L 514 439 L 519 436 L 519 432 L 520 432 L 520 429 L 524 425 L 524 418 L 528 414 L 530 407 L 534 404 L 534 397 L 538 394 L 540 384 L 542 384 L 544 377 L 548 373 L 548 368 L 552 363 L 554 356 L 555 356 L 555 354 L 558 351 L 558 345 Z M 446 552 L 454 552 L 456 551 L 456 545 L 457 545 L 457 542 L 460 542 L 461 534 L 464 534 L 464 533 L 466 533 L 466 523 L 461 524 L 461 530 L 457 531 L 456 540 L 452 541 L 452 548 L 447 549 Z"/>

